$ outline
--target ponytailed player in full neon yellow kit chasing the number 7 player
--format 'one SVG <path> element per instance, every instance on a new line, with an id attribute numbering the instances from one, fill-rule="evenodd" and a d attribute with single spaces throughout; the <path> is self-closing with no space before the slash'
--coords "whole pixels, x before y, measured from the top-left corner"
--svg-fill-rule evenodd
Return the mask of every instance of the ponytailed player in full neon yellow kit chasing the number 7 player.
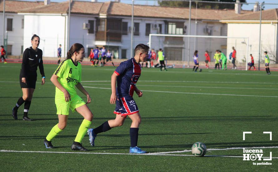
<path id="1" fill-rule="evenodd" d="M 81 64 L 85 58 L 85 49 L 82 44 L 75 43 L 67 52 L 67 59 L 60 63 L 59 67 L 51 77 L 51 82 L 56 86 L 55 104 L 57 107 L 57 115 L 59 123 L 56 124 L 44 139 L 46 148 L 53 148 L 52 139 L 66 128 L 69 109 L 77 111 L 84 117 L 76 138 L 72 144 L 72 150 L 83 150 L 81 141 L 87 133 L 93 114 L 86 104 L 91 102 L 90 95 L 81 85 Z M 75 87 L 87 96 L 87 103 L 84 102 L 76 93 Z"/>

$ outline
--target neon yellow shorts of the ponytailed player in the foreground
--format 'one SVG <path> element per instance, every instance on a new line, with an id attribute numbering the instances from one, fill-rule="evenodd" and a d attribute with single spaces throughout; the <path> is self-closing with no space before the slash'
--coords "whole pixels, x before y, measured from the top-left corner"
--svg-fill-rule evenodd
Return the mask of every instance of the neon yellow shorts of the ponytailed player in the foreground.
<path id="1" fill-rule="evenodd" d="M 72 112 L 75 111 L 76 108 L 86 104 L 84 100 L 79 97 L 77 94 L 74 96 L 71 96 L 71 100 L 69 102 L 65 101 L 64 99 L 55 99 L 55 104 L 57 108 L 57 115 L 68 115 L 69 109 L 72 110 Z"/>

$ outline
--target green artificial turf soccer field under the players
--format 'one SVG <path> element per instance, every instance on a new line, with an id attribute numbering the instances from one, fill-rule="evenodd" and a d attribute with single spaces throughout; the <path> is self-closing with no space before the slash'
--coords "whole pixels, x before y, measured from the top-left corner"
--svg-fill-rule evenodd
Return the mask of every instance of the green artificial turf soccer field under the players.
<path id="1" fill-rule="evenodd" d="M 142 117 L 138 146 L 148 154 L 128 154 L 129 127 L 98 134 L 90 151 L 71 150 L 83 120 L 70 113 L 66 129 L 52 140 L 56 149 L 46 149 L 43 140 L 57 124 L 55 86 L 50 82 L 57 65 L 45 64 L 46 83 L 40 74 L 29 117 L 18 119 L 12 107 L 22 96 L 21 64 L 0 64 L 0 165 L 3 171 L 277 171 L 278 163 L 278 72 L 142 68 L 137 82 L 143 96 L 134 99 Z M 110 79 L 115 68 L 82 66 L 82 85 L 89 92 L 94 114 L 91 127 L 113 119 L 115 105 L 109 103 Z M 78 91 L 85 99 L 85 96 Z M 251 131 L 252 134 L 243 132 Z M 263 132 L 272 132 L 263 134 Z M 195 142 L 206 144 L 205 157 L 191 154 Z M 243 149 L 262 149 L 261 160 L 243 160 Z M 270 157 L 272 160 L 263 160 Z M 252 154 L 252 153 L 250 153 Z M 256 154 L 256 153 L 255 153 Z M 258 153 L 257 153 L 258 154 Z M 253 157 L 254 158 L 254 157 Z M 271 165 L 257 165 L 268 162 Z M 253 165 L 253 164 L 256 165 Z M 1 170 L 1 171 L 2 171 Z"/>

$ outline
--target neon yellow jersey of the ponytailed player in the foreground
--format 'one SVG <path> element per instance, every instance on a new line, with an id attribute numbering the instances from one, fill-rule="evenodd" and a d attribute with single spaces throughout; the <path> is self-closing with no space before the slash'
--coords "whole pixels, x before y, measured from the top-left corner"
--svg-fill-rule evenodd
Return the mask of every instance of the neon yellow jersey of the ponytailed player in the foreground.
<path id="1" fill-rule="evenodd" d="M 75 85 L 81 82 L 81 64 L 74 64 L 72 59 L 62 61 L 54 72 L 58 76 L 59 83 L 73 96 L 76 95 Z M 65 99 L 64 93 L 56 87 L 55 99 Z"/>

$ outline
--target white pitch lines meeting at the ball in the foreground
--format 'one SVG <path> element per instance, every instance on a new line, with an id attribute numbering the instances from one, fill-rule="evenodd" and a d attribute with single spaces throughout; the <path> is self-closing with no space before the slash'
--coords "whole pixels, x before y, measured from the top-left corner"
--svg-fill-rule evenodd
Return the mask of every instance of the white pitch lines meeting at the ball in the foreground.
<path id="1" fill-rule="evenodd" d="M 252 147 L 246 149 L 270 149 L 278 148 L 278 146 L 270 147 Z M 224 148 L 224 149 L 207 149 L 210 150 L 234 150 L 234 149 L 243 149 L 243 147 L 236 148 Z M 146 153 L 146 154 L 126 154 L 126 153 L 102 153 L 102 152 L 52 152 L 52 151 L 21 151 L 21 150 L 0 150 L 0 152 L 14 152 L 14 153 L 48 153 L 48 154 L 108 154 L 108 155 L 156 155 L 156 156 L 194 156 L 194 155 L 185 155 L 185 154 L 173 154 L 173 153 L 184 153 L 191 152 L 191 150 L 182 150 L 182 151 L 171 151 L 171 152 L 155 152 L 155 153 Z M 243 158 L 243 156 L 234 156 L 234 155 L 205 155 L 205 157 L 229 157 L 229 158 Z M 269 157 L 262 157 L 269 158 Z M 278 157 L 272 157 L 273 159 L 278 159 Z"/>

